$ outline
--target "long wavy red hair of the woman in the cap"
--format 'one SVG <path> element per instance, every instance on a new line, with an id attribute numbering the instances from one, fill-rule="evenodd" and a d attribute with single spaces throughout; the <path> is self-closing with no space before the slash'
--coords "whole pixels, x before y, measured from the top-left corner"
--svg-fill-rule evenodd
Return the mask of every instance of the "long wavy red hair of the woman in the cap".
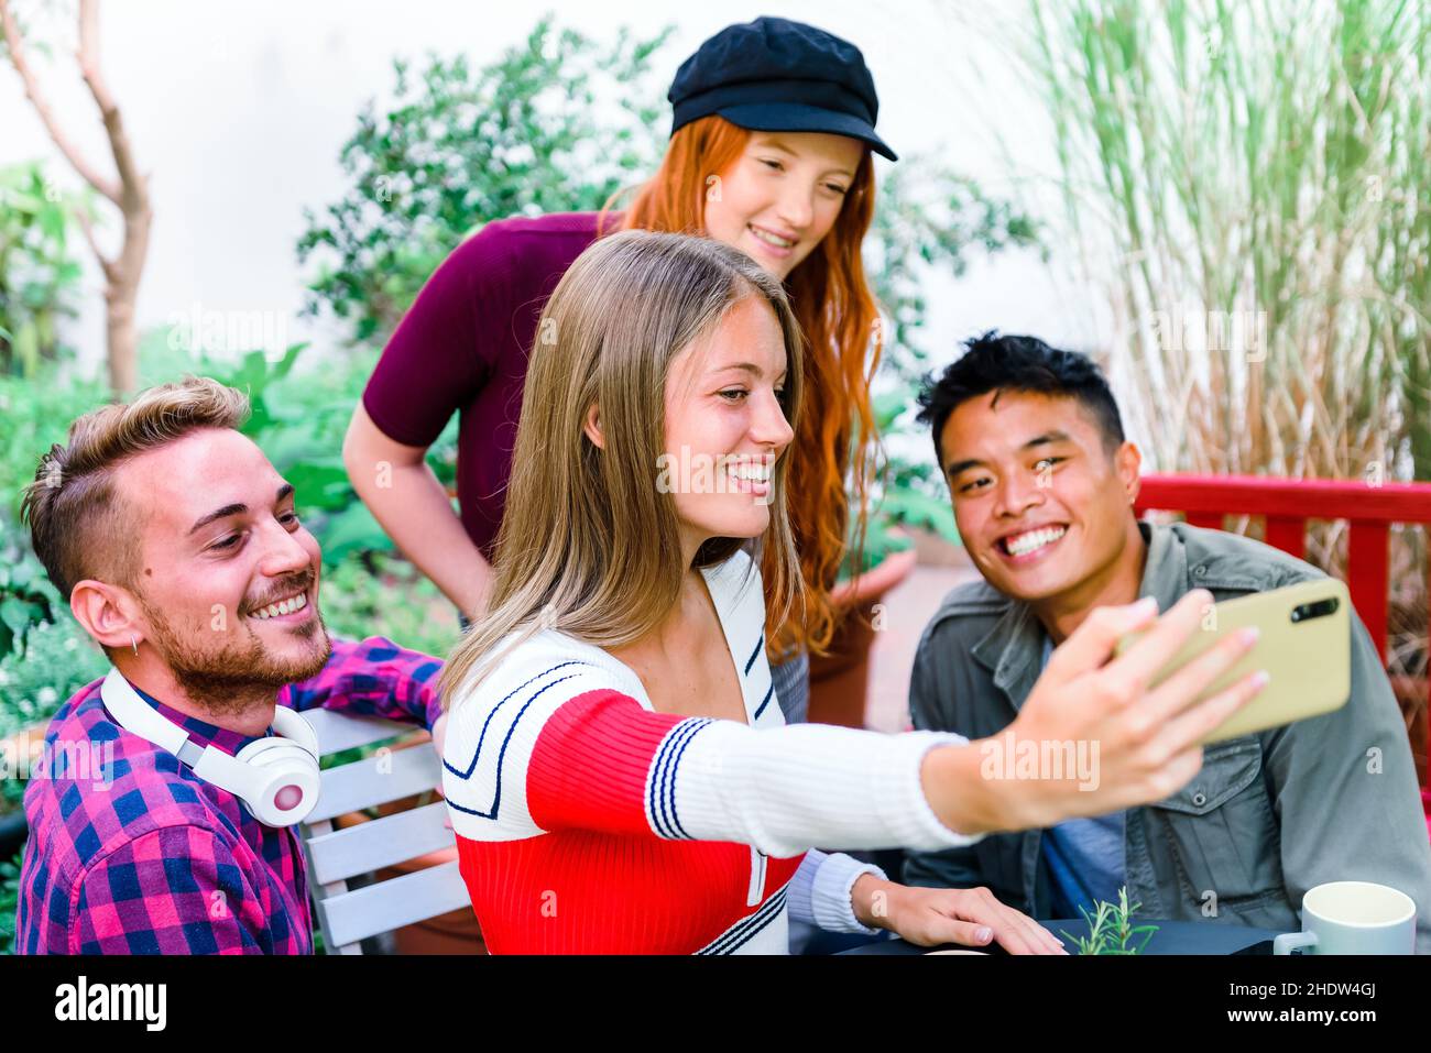
<path id="1" fill-rule="evenodd" d="M 704 235 L 711 177 L 727 172 L 748 140 L 747 129 L 714 114 L 681 127 L 671 136 L 661 167 L 637 189 L 618 227 Z M 873 215 L 874 165 L 866 147 L 834 226 L 786 278 L 786 290 L 809 343 L 803 409 L 787 476 L 804 609 L 803 617 L 767 627 L 770 652 L 777 658 L 794 645 L 804 645 L 816 655 L 829 651 L 841 614 L 830 589 L 846 554 L 851 492 L 854 548 L 856 552 L 863 548 L 877 444 L 870 381 L 881 352 L 879 310 L 860 256 Z"/>

